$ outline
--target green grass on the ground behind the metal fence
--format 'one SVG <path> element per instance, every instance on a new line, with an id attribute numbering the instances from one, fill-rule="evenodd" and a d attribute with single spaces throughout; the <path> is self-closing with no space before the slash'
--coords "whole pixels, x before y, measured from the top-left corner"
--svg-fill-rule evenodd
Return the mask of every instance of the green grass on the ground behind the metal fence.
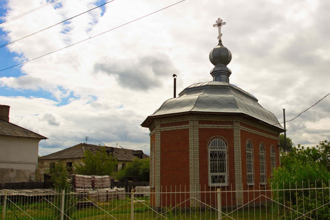
<path id="1" fill-rule="evenodd" d="M 146 204 L 149 203 L 148 198 L 140 198 L 141 200 L 145 200 Z M 130 199 L 125 200 L 113 200 L 110 202 L 99 202 L 97 206 L 91 206 L 83 209 L 75 209 L 71 214 L 70 218 L 73 220 L 111 220 L 111 219 L 131 219 L 131 202 Z M 2 208 L 2 207 L 1 207 Z M 34 203 L 34 204 L 24 204 L 19 205 L 19 208 L 23 209 L 25 213 L 15 207 L 13 204 L 10 207 L 7 207 L 6 211 L 6 220 L 30 220 L 30 215 L 35 220 L 53 220 L 60 219 L 59 211 L 54 212 L 54 207 L 49 203 Z M 1 214 L 2 214 L 2 210 Z M 224 213 L 230 213 L 231 209 L 222 209 Z M 155 219 L 155 220 L 179 220 L 179 219 L 203 219 L 203 220 L 211 220 L 217 219 L 217 211 L 212 208 L 200 209 L 200 208 L 191 208 L 191 209 L 180 209 L 176 210 L 169 208 L 164 208 L 159 211 L 160 214 L 151 210 L 147 205 L 143 203 L 134 203 L 134 219 Z M 268 214 L 267 214 L 268 213 Z M 238 211 L 234 211 L 228 216 L 222 215 L 223 220 L 229 219 L 272 219 L 272 212 L 270 208 L 262 206 L 261 209 L 256 207 L 241 208 Z M 277 213 L 273 213 L 274 219 L 277 219 Z M 1 215 L 2 216 L 2 215 Z M 16 217 L 17 216 L 17 217 Z M 1 219 L 1 217 L 0 217 Z"/>

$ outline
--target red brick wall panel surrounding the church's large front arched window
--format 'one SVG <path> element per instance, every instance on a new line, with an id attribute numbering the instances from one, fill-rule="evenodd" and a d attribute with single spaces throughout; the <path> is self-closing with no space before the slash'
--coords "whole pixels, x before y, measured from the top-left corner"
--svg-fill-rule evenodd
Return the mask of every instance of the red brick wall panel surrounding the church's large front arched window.
<path id="1" fill-rule="evenodd" d="M 209 187 L 209 173 L 208 173 L 208 143 L 214 136 L 223 137 L 228 144 L 228 171 L 229 171 L 229 186 L 221 187 L 221 191 L 235 190 L 235 168 L 234 168 L 234 130 L 233 129 L 219 129 L 219 128 L 199 128 L 199 178 L 201 189 L 207 191 L 216 191 L 220 187 Z M 225 194 L 223 195 L 226 196 Z M 201 196 L 206 203 L 215 206 L 216 197 L 214 194 L 206 194 Z M 225 204 L 225 200 L 222 200 Z M 236 204 L 234 197 L 227 197 L 227 204 Z"/>

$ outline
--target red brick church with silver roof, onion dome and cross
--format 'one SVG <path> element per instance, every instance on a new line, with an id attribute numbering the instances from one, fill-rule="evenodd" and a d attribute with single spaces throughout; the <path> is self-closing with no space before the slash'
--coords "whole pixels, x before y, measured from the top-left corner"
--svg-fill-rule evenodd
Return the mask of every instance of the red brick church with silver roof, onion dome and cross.
<path id="1" fill-rule="evenodd" d="M 214 25 L 219 28 L 219 43 L 210 52 L 213 80 L 186 87 L 141 125 L 150 130 L 154 207 L 175 206 L 181 194 L 157 192 L 179 192 L 179 188 L 180 192 L 265 189 L 272 168 L 280 165 L 279 134 L 284 129 L 253 95 L 229 83 L 227 65 L 232 55 L 221 42 L 223 24 L 218 19 Z M 228 204 L 222 205 L 247 202 L 242 192 L 230 195 Z M 194 195 L 214 205 L 216 198 L 210 197 Z M 189 205 L 193 204 L 185 204 Z"/>

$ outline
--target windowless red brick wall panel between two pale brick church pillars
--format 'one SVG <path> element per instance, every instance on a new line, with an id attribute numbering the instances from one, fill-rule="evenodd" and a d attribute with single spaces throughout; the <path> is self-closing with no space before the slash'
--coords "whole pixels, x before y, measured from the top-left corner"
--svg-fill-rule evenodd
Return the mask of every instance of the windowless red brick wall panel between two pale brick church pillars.
<path id="1" fill-rule="evenodd" d="M 189 129 L 160 132 L 160 187 L 162 192 L 189 190 Z M 182 195 L 181 195 L 182 196 Z M 162 194 L 161 206 L 180 201 L 180 194 Z M 189 207 L 189 204 L 185 204 Z"/>

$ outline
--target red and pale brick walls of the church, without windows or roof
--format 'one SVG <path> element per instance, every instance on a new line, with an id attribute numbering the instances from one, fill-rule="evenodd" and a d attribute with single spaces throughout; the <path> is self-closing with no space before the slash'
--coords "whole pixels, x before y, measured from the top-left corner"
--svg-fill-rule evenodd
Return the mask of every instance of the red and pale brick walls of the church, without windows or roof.
<path id="1" fill-rule="evenodd" d="M 152 129 L 151 129 L 152 128 Z M 276 152 L 276 166 L 279 166 L 278 136 L 280 130 L 266 126 L 256 120 L 242 116 L 225 115 L 185 115 L 154 119 L 150 126 L 150 144 L 155 144 L 155 186 L 151 192 L 188 192 L 263 189 L 260 185 L 259 145 L 261 142 L 266 150 L 266 173 L 271 178 L 270 147 Z M 228 185 L 209 186 L 208 144 L 210 140 L 220 136 L 225 140 L 228 158 Z M 246 142 L 253 144 L 254 155 L 254 185 L 247 184 Z M 239 161 L 238 163 L 238 160 Z M 258 194 L 258 193 L 257 193 Z M 258 195 L 254 196 L 257 197 Z M 222 193 L 226 197 L 222 205 L 237 205 L 246 203 L 248 195 Z M 242 198 L 243 196 L 243 198 Z M 253 194 L 249 195 L 250 198 Z M 240 198 L 238 198 L 240 197 Z M 152 195 L 151 205 L 156 207 L 175 206 L 183 198 L 189 198 L 187 193 Z M 199 199 L 214 206 L 214 194 L 202 193 Z M 244 201 L 243 201 L 244 200 Z M 227 201 L 227 203 L 225 202 Z M 188 207 L 191 201 L 183 203 Z"/>

